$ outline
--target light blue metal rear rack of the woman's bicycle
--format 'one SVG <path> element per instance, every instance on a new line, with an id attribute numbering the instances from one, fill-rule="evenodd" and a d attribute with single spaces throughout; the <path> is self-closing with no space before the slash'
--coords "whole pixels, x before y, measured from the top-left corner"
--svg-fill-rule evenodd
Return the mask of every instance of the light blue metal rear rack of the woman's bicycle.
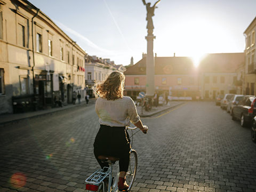
<path id="1" fill-rule="evenodd" d="M 107 171 L 103 171 L 107 170 Z M 110 174 L 109 167 L 104 167 L 103 169 L 95 171 L 85 182 L 93 185 L 99 185 L 108 175 Z"/>

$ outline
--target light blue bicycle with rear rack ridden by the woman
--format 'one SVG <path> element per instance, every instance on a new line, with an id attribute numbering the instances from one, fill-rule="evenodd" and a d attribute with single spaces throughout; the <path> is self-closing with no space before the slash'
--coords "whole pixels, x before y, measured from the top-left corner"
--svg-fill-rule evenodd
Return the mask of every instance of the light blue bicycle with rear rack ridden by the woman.
<path id="1" fill-rule="evenodd" d="M 144 125 L 146 126 L 146 125 Z M 147 126 L 146 126 L 147 127 Z M 126 130 L 131 130 L 131 146 L 133 142 L 133 135 L 138 133 L 139 131 L 133 133 L 133 130 L 137 129 L 137 127 L 126 127 Z M 143 132 L 146 134 L 147 132 Z M 137 164 L 138 164 L 138 156 L 137 152 L 134 149 L 130 150 L 130 162 L 129 168 L 126 173 L 126 183 L 129 185 L 129 188 L 126 191 L 130 191 L 132 188 L 132 184 L 135 180 L 135 175 L 137 172 Z M 99 169 L 95 171 L 89 178 L 85 180 L 86 190 L 88 191 L 97 191 L 97 192 L 117 192 L 118 191 L 118 179 L 119 179 L 119 168 L 116 173 L 116 178 L 114 178 L 114 170 L 113 165 L 119 159 L 117 157 L 100 155 L 99 159 L 102 162 L 108 162 L 109 167 L 103 167 L 103 169 Z"/>

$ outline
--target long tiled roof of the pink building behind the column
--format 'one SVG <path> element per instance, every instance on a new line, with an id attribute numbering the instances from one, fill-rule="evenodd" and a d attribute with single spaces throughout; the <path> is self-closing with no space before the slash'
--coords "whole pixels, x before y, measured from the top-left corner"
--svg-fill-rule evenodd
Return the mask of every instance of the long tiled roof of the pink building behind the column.
<path id="1" fill-rule="evenodd" d="M 201 73 L 235 73 L 245 61 L 244 53 L 210 53 L 198 68 L 190 57 L 155 57 L 155 75 L 191 75 Z M 126 69 L 125 75 L 146 75 L 146 57 Z"/>

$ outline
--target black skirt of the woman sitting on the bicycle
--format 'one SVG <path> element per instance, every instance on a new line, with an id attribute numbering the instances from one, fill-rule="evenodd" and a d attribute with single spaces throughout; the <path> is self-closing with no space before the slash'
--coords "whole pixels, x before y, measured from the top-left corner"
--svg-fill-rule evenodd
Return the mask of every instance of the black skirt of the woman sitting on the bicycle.
<path id="1" fill-rule="evenodd" d="M 107 125 L 100 125 L 93 146 L 97 157 L 107 155 L 123 158 L 129 155 L 131 150 L 129 134 L 125 127 Z"/>

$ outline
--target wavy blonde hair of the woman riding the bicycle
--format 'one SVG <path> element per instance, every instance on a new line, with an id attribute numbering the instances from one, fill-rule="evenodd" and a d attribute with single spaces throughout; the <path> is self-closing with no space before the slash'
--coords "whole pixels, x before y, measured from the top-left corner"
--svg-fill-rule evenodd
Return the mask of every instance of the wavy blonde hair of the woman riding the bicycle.
<path id="1" fill-rule="evenodd" d="M 124 79 L 123 73 L 113 71 L 105 81 L 97 83 L 95 91 L 107 100 L 123 98 Z"/>

